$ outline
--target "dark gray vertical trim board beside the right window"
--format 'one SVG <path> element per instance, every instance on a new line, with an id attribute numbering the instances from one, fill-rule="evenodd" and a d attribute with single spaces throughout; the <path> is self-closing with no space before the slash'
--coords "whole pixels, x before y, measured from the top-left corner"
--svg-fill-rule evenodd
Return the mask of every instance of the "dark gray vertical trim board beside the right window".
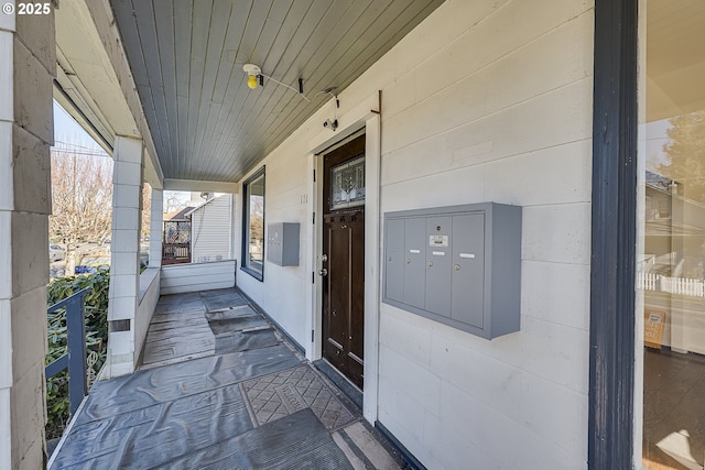
<path id="1" fill-rule="evenodd" d="M 637 0 L 595 1 L 588 468 L 633 453 Z"/>

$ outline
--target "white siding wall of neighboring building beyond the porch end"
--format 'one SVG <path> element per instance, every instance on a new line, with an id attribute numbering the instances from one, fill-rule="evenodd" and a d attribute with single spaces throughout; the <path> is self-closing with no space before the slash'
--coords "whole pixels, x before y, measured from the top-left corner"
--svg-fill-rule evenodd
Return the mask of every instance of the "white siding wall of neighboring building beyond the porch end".
<path id="1" fill-rule="evenodd" d="M 223 195 L 191 215 L 191 260 L 194 263 L 229 260 L 232 196 Z"/>

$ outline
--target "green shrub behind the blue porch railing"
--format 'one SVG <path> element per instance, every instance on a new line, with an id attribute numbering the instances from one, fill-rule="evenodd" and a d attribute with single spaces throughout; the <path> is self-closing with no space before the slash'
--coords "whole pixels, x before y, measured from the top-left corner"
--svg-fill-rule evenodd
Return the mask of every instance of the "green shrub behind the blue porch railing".
<path id="1" fill-rule="evenodd" d="M 46 288 L 47 305 L 52 306 L 83 288 L 90 288 L 84 297 L 86 319 L 86 347 L 96 351 L 97 372 L 106 358 L 108 341 L 108 288 L 110 276 L 107 270 L 91 274 L 52 280 Z M 48 349 L 46 364 L 66 353 L 66 309 L 62 308 L 47 316 Z M 88 352 L 87 351 L 87 352 Z M 46 381 L 46 438 L 59 437 L 68 423 L 68 375 L 63 371 Z"/>

